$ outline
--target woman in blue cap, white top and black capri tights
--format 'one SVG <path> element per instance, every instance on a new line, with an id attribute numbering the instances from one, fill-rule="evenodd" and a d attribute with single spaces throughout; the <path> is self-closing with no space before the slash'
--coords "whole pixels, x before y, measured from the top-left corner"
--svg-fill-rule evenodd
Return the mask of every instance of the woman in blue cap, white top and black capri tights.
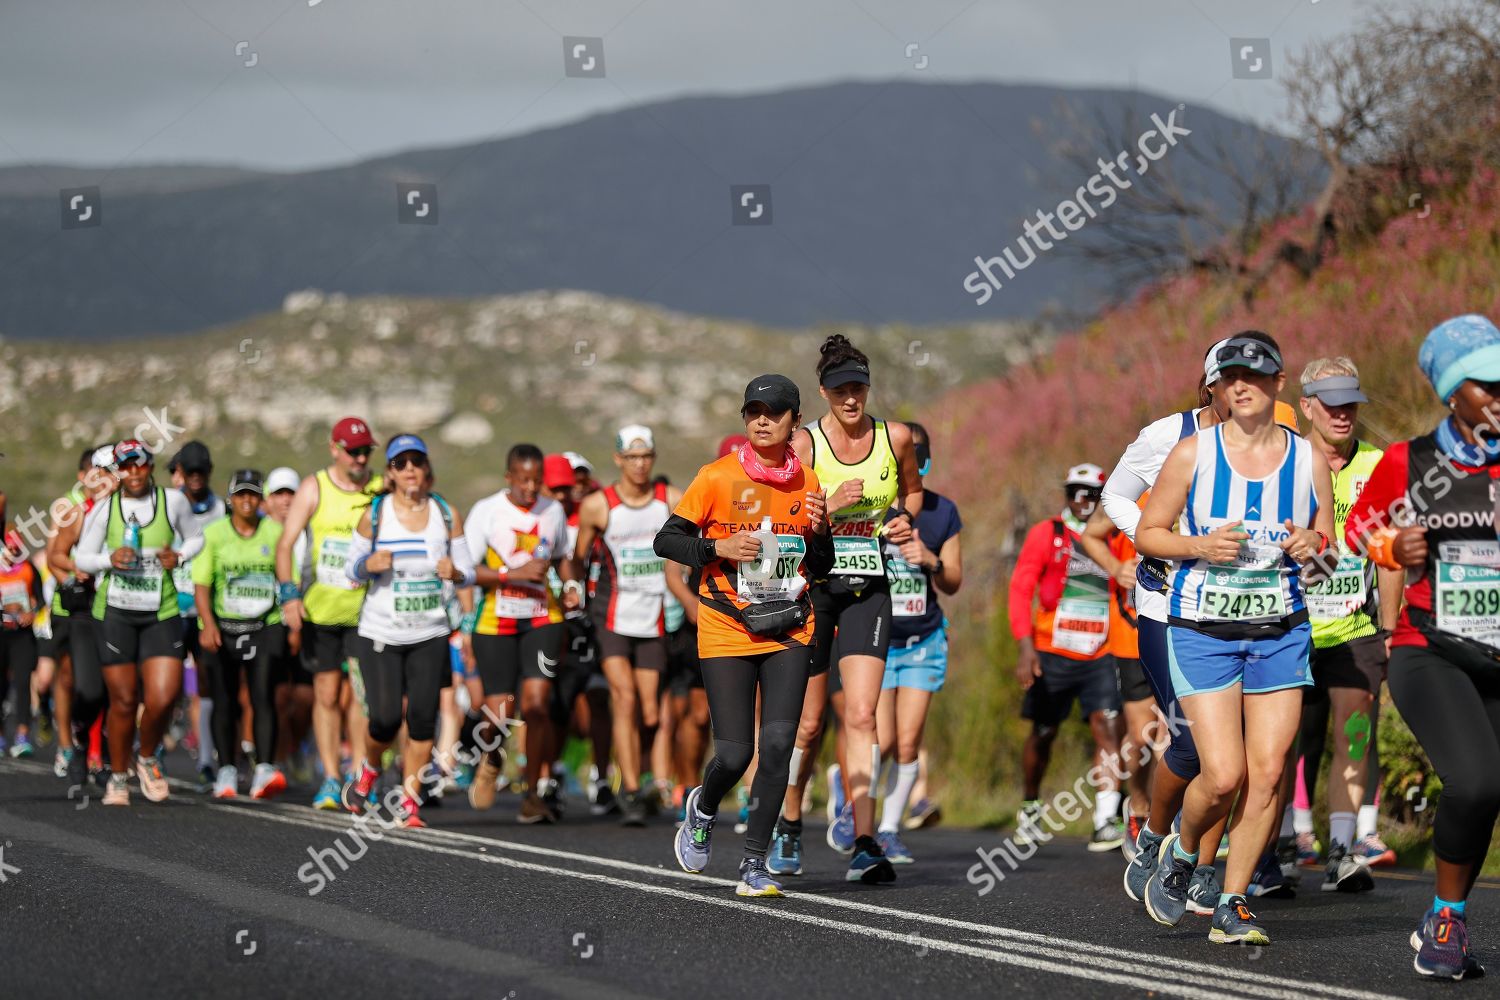
<path id="1" fill-rule="evenodd" d="M 474 561 L 464 522 L 432 492 L 432 481 L 426 442 L 417 435 L 392 438 L 386 445 L 386 492 L 376 493 L 360 517 L 345 564 L 350 579 L 369 588 L 360 607 L 360 637 L 368 643 L 360 675 L 369 736 L 352 799 L 362 810 L 378 804 L 380 762 L 405 718 L 400 819 L 406 826 L 426 826 L 417 796 L 423 768 L 432 762 L 438 703 L 452 673 L 450 585 L 465 588 L 459 601 L 465 612 L 472 609 L 466 588 L 474 585 Z"/>

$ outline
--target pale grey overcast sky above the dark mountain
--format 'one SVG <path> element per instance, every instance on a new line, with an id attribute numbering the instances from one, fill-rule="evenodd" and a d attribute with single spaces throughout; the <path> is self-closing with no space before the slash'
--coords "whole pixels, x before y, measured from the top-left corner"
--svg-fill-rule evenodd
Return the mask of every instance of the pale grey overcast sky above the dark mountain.
<path id="1" fill-rule="evenodd" d="M 1280 84 L 1236 79 L 1230 39 L 1269 37 L 1280 73 L 1290 52 L 1347 31 L 1368 6 L 0 0 L 0 165 L 296 169 L 680 94 L 892 76 L 1134 85 L 1286 130 Z M 564 75 L 564 36 L 603 39 L 604 78 Z"/>

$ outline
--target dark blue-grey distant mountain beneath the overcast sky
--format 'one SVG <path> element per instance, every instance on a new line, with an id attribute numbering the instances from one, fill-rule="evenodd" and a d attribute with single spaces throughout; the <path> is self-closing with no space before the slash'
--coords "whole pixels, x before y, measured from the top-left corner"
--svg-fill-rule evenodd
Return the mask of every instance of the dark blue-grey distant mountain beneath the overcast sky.
<path id="1" fill-rule="evenodd" d="M 24 184 L 0 172 L 0 334 L 183 333 L 309 286 L 356 297 L 580 288 L 792 327 L 1090 312 L 1108 276 L 1076 255 L 1042 255 L 982 307 L 963 285 L 976 255 L 999 255 L 1026 219 L 1089 180 L 1071 180 L 1077 168 L 1050 148 L 1058 121 L 1119 121 L 1125 108 L 1142 121 L 1176 114 L 1192 132 L 1179 142 L 1204 148 L 1248 148 L 1258 135 L 1140 91 L 846 82 L 642 105 L 334 169 L 206 183 L 166 168 L 176 187 L 144 183 L 141 169 L 38 168 Z M 1168 154 L 1227 199 L 1212 172 Z M 398 223 L 398 183 L 436 186 L 420 220 L 436 225 Z M 770 186 L 756 219 L 770 225 L 732 225 L 735 184 Z M 57 190 L 84 186 L 99 187 L 99 213 L 63 229 Z M 753 198 L 747 214 L 762 207 Z M 423 204 L 418 193 L 412 210 Z"/>

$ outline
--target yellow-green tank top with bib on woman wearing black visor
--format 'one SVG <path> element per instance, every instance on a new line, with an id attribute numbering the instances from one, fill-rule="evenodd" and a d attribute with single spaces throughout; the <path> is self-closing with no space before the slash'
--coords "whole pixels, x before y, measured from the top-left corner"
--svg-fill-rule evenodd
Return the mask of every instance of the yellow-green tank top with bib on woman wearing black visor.
<path id="1" fill-rule="evenodd" d="M 813 438 L 813 472 L 830 495 L 848 480 L 864 480 L 864 495 L 858 501 L 830 511 L 834 535 L 834 568 L 830 576 L 884 577 L 885 559 L 876 532 L 885 523 L 885 511 L 896 504 L 902 484 L 890 427 L 884 420 L 876 420 L 870 453 L 852 465 L 844 465 L 834 456 L 822 420 L 812 424 L 807 433 Z"/>

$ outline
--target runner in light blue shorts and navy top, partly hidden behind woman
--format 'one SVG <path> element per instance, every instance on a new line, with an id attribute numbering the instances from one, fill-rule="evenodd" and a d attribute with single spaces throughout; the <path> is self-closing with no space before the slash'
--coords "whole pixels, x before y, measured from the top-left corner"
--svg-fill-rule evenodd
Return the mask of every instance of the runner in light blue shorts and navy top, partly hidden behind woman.
<path id="1" fill-rule="evenodd" d="M 948 676 L 948 622 L 938 606 L 938 592 L 952 597 L 963 585 L 958 508 L 926 487 L 932 442 L 921 424 L 908 427 L 916 448 L 916 472 L 922 477 L 922 508 L 916 511 L 910 540 L 885 550 L 892 607 L 891 654 L 876 712 L 880 756 L 894 754 L 896 762 L 896 787 L 885 796 L 876 834 L 892 865 L 915 861 L 902 843 L 902 817 L 916 784 L 927 709 Z"/>

